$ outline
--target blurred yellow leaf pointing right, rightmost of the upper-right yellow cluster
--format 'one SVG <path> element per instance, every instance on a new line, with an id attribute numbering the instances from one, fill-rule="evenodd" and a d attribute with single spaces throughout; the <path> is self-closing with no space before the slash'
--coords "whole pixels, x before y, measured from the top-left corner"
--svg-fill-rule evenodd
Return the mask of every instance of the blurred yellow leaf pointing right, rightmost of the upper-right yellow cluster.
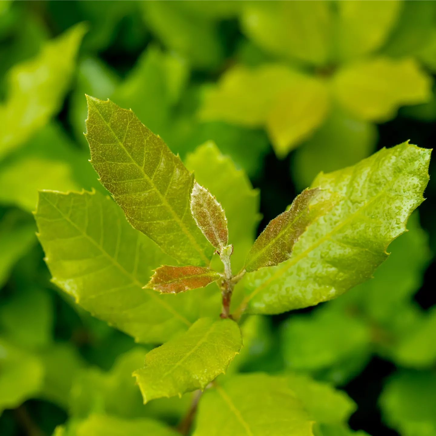
<path id="1" fill-rule="evenodd" d="M 432 79 L 413 59 L 379 57 L 341 68 L 333 78 L 337 101 L 364 120 L 385 121 L 403 105 L 431 99 Z"/>

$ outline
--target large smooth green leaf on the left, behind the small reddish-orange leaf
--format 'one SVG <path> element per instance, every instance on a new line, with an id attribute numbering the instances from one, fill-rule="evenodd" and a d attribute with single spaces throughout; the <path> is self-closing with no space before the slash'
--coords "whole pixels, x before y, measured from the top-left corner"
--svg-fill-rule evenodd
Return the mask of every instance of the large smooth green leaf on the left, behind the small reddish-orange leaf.
<path id="1" fill-rule="evenodd" d="M 35 218 L 53 282 L 137 341 L 167 341 L 201 314 L 218 315 L 216 285 L 199 291 L 195 305 L 189 293 L 165 296 L 142 289 L 152 270 L 171 259 L 133 229 L 109 198 L 42 191 Z"/>

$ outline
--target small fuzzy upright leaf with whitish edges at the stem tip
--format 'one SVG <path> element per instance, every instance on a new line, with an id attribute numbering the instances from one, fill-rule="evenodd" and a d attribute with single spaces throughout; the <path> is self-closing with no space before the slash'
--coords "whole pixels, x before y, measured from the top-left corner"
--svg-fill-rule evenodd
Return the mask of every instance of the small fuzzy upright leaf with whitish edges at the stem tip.
<path id="1" fill-rule="evenodd" d="M 227 218 L 216 198 L 203 186 L 194 183 L 191 193 L 191 212 L 203 235 L 217 249 L 228 244 Z"/>

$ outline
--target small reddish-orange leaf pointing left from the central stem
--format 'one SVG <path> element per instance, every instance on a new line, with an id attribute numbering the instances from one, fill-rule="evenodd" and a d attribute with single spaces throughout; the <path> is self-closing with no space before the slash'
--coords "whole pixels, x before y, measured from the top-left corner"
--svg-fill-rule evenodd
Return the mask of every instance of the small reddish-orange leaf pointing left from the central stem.
<path id="1" fill-rule="evenodd" d="M 177 294 L 190 289 L 204 288 L 221 276 L 213 269 L 203 266 L 168 266 L 154 270 L 154 275 L 144 288 L 163 294 Z"/>

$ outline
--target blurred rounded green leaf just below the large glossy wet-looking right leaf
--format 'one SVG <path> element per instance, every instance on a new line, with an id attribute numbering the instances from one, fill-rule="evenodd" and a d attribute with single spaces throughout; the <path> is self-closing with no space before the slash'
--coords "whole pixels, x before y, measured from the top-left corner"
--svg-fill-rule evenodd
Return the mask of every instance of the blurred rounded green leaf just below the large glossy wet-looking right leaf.
<path id="1" fill-rule="evenodd" d="M 353 356 L 362 356 L 366 361 L 371 330 L 359 318 L 325 307 L 311 316 L 300 315 L 287 320 L 282 326 L 281 341 L 288 368 L 319 374 L 341 367 Z M 337 372 L 334 381 L 340 382 L 342 375 Z"/>

